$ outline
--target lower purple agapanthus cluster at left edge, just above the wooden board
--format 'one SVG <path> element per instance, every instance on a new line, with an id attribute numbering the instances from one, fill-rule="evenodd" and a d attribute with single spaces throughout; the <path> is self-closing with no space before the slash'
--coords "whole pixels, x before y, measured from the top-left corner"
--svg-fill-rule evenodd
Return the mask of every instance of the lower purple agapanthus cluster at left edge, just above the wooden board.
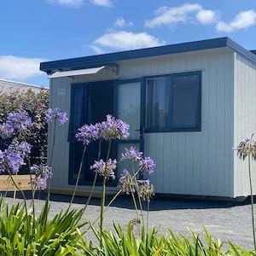
<path id="1" fill-rule="evenodd" d="M 4 151 L 0 150 L 0 173 L 15 174 L 20 166 L 26 165 L 24 157 L 30 152 L 28 143 L 11 143 Z"/>

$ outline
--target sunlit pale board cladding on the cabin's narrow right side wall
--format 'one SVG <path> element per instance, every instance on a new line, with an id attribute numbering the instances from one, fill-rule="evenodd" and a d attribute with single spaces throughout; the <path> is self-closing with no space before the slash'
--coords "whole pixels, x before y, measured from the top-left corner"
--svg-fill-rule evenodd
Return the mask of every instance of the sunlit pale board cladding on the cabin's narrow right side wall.
<path id="1" fill-rule="evenodd" d="M 234 145 L 241 142 L 241 137 L 251 137 L 256 132 L 256 64 L 242 55 L 235 55 L 235 90 L 234 90 Z M 252 170 L 256 169 L 252 161 Z M 234 193 L 235 196 L 250 195 L 248 162 L 239 160 L 234 153 Z M 256 176 L 253 175 L 253 188 Z M 253 191 L 256 194 L 256 190 Z"/>

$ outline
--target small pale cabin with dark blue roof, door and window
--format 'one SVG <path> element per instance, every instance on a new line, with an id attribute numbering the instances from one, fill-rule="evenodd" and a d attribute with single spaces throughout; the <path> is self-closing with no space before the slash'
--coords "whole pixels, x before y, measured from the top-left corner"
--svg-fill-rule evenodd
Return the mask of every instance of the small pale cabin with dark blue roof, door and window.
<path id="1" fill-rule="evenodd" d="M 154 159 L 156 193 L 239 198 L 249 195 L 247 161 L 232 150 L 256 132 L 256 55 L 230 38 L 172 44 L 41 63 L 50 106 L 67 112 L 53 157 L 55 191 L 73 189 L 82 154 L 77 129 L 112 113 L 131 125 L 112 157 L 135 146 Z M 49 129 L 49 152 L 53 127 Z M 90 189 L 96 143 L 79 190 Z M 117 178 L 125 163 L 119 165 Z M 256 165 L 253 164 L 256 170 Z M 253 175 L 256 185 L 256 175 Z M 108 190 L 117 189 L 109 182 Z"/>

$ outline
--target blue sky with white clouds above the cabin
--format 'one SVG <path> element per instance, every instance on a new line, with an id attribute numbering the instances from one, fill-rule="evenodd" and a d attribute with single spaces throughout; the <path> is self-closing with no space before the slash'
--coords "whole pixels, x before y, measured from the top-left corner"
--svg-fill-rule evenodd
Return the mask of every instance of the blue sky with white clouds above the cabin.
<path id="1" fill-rule="evenodd" d="M 49 86 L 39 63 L 229 37 L 256 49 L 255 0 L 1 0 L 0 79 Z"/>

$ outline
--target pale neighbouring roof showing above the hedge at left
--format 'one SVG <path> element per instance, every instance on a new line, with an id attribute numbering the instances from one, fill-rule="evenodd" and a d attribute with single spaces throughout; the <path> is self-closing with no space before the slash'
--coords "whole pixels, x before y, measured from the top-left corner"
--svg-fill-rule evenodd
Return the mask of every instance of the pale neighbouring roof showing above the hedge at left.
<path id="1" fill-rule="evenodd" d="M 32 90 L 49 90 L 49 88 L 40 86 L 40 85 L 35 85 L 35 84 L 26 84 L 26 83 L 21 83 L 21 82 L 16 82 L 16 81 L 10 81 L 6 79 L 0 79 L 0 90 L 27 90 L 27 89 L 32 89 Z"/>

